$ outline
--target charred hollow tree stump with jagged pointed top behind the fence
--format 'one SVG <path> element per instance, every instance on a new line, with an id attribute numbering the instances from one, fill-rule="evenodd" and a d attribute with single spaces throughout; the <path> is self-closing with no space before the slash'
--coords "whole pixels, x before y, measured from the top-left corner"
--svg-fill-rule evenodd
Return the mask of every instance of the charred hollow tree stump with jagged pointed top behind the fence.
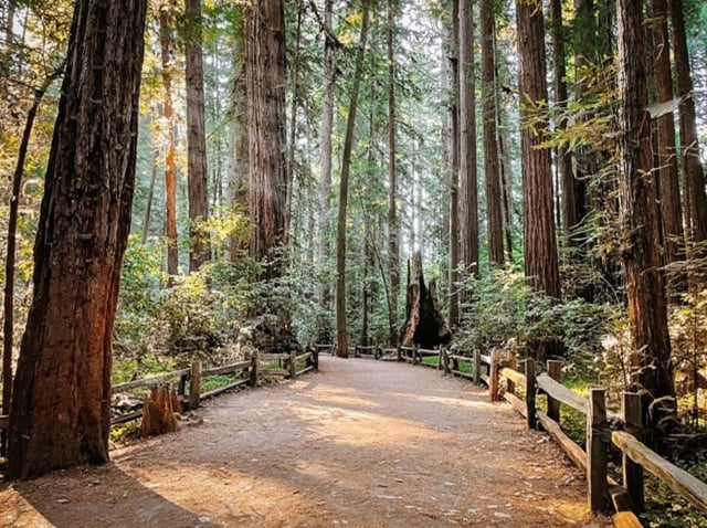
<path id="1" fill-rule="evenodd" d="M 436 299 L 436 283 L 434 279 L 430 281 L 430 288 L 424 284 L 420 252 L 416 252 L 408 264 L 405 324 L 400 336 L 403 347 L 416 345 L 424 349 L 446 345 L 452 339 L 452 332 Z"/>

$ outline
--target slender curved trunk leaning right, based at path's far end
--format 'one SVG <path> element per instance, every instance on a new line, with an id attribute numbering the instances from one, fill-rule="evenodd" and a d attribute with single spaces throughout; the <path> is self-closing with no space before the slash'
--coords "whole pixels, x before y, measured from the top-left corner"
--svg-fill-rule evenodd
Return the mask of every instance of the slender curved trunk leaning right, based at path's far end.
<path id="1" fill-rule="evenodd" d="M 351 171 L 351 150 L 354 148 L 354 128 L 356 125 L 356 108 L 358 94 L 363 75 L 363 55 L 368 39 L 368 23 L 370 0 L 363 0 L 363 14 L 361 20 L 361 35 L 356 54 L 356 70 L 354 72 L 354 86 L 351 87 L 351 101 L 349 102 L 349 115 L 346 123 L 346 137 L 344 139 L 344 154 L 341 156 L 341 181 L 339 187 L 339 214 L 336 235 L 336 353 L 340 358 L 349 355 L 348 335 L 346 329 L 346 211 L 349 194 L 349 173 Z"/>

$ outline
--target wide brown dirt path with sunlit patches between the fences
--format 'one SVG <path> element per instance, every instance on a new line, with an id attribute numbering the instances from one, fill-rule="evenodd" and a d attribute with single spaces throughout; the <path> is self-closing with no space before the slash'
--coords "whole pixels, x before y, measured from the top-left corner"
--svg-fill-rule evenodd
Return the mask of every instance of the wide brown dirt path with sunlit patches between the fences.
<path id="1" fill-rule="evenodd" d="M 320 358 L 113 462 L 0 486 L 2 527 L 604 527 L 505 403 L 432 369 Z"/>

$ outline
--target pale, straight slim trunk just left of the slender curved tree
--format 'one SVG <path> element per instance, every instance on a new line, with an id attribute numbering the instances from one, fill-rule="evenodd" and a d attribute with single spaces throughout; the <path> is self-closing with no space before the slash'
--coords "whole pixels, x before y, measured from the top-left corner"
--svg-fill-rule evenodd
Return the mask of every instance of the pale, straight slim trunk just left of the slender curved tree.
<path id="1" fill-rule="evenodd" d="M 326 0 L 324 7 L 324 96 L 321 99 L 321 175 L 319 181 L 319 251 L 318 268 L 324 273 L 329 256 L 329 231 L 331 229 L 331 135 L 334 131 L 334 86 L 336 65 L 334 63 L 334 42 L 331 41 L 331 22 L 334 19 L 334 0 Z M 320 281 L 318 300 L 321 315 L 317 324 L 317 341 L 329 342 L 331 339 L 330 323 L 326 315 L 329 310 L 331 293 L 328 281 Z"/>

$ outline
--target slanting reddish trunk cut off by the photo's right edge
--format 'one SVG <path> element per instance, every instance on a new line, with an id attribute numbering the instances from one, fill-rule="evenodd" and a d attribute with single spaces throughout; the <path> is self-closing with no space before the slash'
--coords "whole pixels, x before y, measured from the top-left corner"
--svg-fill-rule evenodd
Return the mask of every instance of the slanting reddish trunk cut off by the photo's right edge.
<path id="1" fill-rule="evenodd" d="M 689 222 L 688 235 L 694 242 L 707 240 L 707 196 L 705 175 L 699 158 L 699 142 L 695 117 L 695 96 L 690 75 L 683 0 L 671 0 L 673 22 L 673 53 L 677 77 L 679 101 L 680 152 L 683 156 L 683 182 L 685 187 L 685 209 Z"/>

